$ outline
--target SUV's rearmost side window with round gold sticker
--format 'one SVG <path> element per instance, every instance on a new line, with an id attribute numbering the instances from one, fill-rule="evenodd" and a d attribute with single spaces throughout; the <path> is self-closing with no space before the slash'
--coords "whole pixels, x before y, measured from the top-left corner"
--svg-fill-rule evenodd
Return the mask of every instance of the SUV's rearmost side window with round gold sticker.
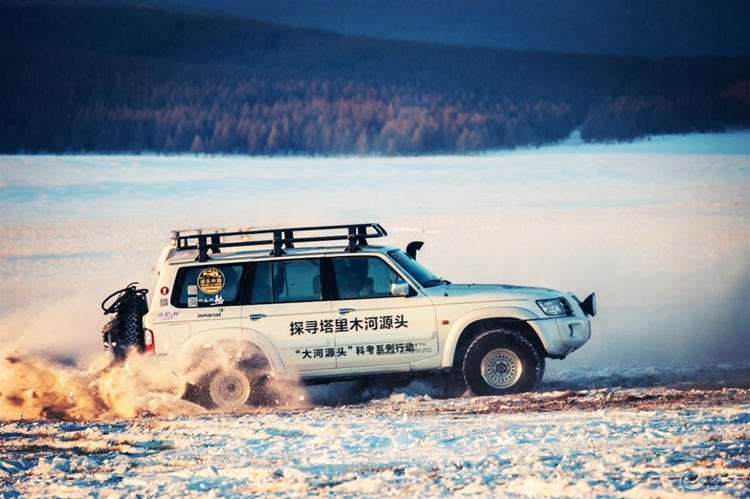
<path id="1" fill-rule="evenodd" d="M 236 305 L 242 269 L 242 265 L 181 268 L 177 271 L 172 305 L 181 308 Z"/>

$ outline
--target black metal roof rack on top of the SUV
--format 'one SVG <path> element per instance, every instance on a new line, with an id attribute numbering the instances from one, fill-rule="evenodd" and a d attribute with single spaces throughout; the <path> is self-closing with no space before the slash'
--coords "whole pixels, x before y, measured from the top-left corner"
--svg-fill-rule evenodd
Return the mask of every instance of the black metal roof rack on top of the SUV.
<path id="1" fill-rule="evenodd" d="M 318 234 L 299 236 L 300 232 L 317 232 Z M 250 236 L 263 235 L 269 237 L 250 239 Z M 360 246 L 367 246 L 367 238 L 387 235 L 388 233 L 378 223 L 232 231 L 193 229 L 173 231 L 172 244 L 177 251 L 198 250 L 196 260 L 205 262 L 211 259 L 208 256 L 209 250 L 211 253 L 221 253 L 221 248 L 273 245 L 271 255 L 280 256 L 285 254 L 283 248 L 294 248 L 295 243 L 318 241 L 348 241 L 344 251 L 355 253 L 360 250 Z"/>

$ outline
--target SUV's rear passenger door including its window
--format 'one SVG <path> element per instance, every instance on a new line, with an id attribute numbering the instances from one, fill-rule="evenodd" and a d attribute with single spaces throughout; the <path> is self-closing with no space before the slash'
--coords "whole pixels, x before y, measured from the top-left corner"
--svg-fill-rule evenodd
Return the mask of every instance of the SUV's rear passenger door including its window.
<path id="1" fill-rule="evenodd" d="M 320 289 L 319 258 L 256 262 L 242 327 L 274 345 L 283 367 L 308 373 L 336 367 L 331 302 Z"/>

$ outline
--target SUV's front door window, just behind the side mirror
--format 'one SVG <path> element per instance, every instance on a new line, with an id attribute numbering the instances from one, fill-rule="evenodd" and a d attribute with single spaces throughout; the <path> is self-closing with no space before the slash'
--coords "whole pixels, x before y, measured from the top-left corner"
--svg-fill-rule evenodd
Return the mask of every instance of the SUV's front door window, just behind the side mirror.
<path id="1" fill-rule="evenodd" d="M 381 298 L 391 296 L 391 284 L 398 274 L 376 257 L 333 258 L 339 298 Z"/>

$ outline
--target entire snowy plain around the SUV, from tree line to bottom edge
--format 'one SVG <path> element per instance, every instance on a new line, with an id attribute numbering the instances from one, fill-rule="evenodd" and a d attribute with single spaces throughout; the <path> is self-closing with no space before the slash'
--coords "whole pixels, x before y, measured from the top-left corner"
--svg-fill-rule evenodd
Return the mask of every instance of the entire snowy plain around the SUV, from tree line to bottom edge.
<path id="1" fill-rule="evenodd" d="M 750 132 L 469 157 L 5 156 L 0 220 L 0 497 L 750 497 Z M 594 336 L 535 394 L 340 384 L 230 415 L 140 360 L 105 365 L 99 304 L 151 285 L 170 229 L 352 221 L 425 241 L 454 282 L 596 291 Z"/>

